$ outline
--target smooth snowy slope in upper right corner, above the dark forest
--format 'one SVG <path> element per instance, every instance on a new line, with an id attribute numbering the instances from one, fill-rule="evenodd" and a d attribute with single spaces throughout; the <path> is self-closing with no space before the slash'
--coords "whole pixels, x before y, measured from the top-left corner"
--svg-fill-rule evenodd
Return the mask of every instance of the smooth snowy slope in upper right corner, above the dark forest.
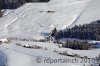
<path id="1" fill-rule="evenodd" d="M 87 24 L 98 19 L 100 19 L 100 0 L 91 0 L 75 24 Z"/>

